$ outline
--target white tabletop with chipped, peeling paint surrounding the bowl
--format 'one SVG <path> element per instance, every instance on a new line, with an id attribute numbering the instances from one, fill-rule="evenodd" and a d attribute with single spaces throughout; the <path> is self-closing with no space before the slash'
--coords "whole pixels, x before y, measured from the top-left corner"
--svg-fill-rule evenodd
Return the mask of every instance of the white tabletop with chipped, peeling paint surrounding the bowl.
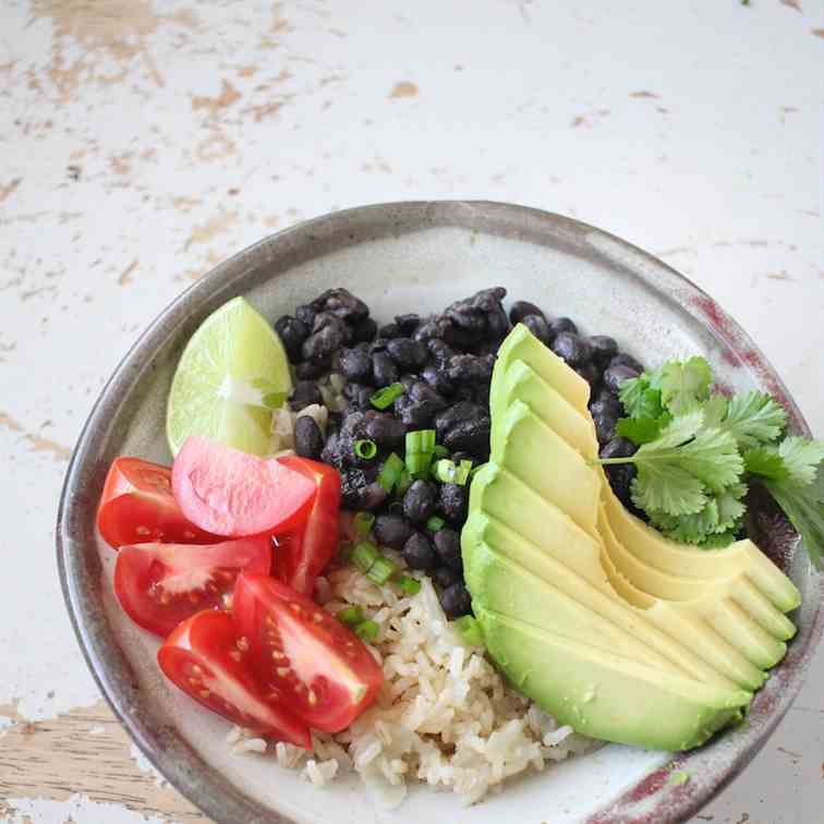
<path id="1" fill-rule="evenodd" d="M 4 0 L 0 816 L 203 821 L 100 700 L 53 562 L 72 444 L 172 298 L 334 209 L 523 203 L 700 283 L 822 435 L 822 112 L 821 0 Z M 695 821 L 821 821 L 823 693 L 819 655 Z"/>

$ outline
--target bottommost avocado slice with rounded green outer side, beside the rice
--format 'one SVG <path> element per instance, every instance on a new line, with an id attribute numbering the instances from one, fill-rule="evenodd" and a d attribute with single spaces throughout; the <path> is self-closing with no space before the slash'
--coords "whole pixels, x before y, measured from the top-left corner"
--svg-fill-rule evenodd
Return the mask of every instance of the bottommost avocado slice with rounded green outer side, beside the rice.
<path id="1" fill-rule="evenodd" d="M 739 720 L 751 693 L 663 672 L 655 666 L 531 627 L 483 606 L 475 615 L 489 654 L 511 683 L 559 723 L 645 749 L 700 747 Z"/>

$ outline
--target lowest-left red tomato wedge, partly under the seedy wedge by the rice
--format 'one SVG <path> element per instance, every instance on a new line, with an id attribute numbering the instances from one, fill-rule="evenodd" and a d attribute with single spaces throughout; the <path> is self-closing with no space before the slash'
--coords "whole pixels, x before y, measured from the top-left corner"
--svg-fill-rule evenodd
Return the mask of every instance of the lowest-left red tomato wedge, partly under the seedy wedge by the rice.
<path id="1" fill-rule="evenodd" d="M 206 610 L 181 623 L 157 653 L 166 677 L 225 718 L 265 736 L 310 749 L 306 725 L 265 695 L 246 664 L 245 644 L 227 613 Z"/>

